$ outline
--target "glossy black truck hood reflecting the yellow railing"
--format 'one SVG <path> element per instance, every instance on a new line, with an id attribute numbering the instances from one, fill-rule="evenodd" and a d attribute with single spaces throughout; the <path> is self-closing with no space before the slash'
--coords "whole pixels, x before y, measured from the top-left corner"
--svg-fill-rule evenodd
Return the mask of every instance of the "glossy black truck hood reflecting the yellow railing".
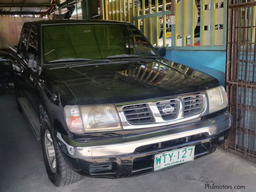
<path id="1" fill-rule="evenodd" d="M 125 59 L 47 68 L 68 87 L 78 105 L 149 100 L 220 85 L 214 77 L 170 60 Z"/>

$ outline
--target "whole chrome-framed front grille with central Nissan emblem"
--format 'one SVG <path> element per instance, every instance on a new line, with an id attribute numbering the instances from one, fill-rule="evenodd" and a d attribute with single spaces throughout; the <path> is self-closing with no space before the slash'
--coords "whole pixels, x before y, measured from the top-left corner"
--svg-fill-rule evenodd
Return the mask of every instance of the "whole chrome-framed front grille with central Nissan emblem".
<path id="1" fill-rule="evenodd" d="M 117 106 L 124 129 L 169 125 L 201 117 L 208 112 L 207 93 L 173 96 L 166 100 Z M 164 109 L 164 110 L 163 110 Z M 144 125 L 145 124 L 145 125 Z"/>

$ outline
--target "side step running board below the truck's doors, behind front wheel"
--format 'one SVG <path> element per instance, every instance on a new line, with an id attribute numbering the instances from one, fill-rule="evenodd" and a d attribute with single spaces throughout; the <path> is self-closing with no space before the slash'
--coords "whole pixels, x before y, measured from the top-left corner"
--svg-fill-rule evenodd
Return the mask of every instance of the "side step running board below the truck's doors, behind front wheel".
<path id="1" fill-rule="evenodd" d="M 36 139 L 40 140 L 40 121 L 36 117 L 33 109 L 30 107 L 26 98 L 20 97 L 20 98 L 18 98 L 18 101 L 20 103 L 20 106 L 21 106 L 25 116 L 28 119 L 28 122 L 36 136 Z"/>

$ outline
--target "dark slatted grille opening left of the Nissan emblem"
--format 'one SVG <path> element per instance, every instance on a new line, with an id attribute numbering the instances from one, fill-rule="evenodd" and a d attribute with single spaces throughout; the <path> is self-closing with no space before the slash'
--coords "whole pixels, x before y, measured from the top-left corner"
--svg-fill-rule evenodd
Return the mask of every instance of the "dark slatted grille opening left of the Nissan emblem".
<path id="1" fill-rule="evenodd" d="M 131 124 L 145 124 L 155 122 L 148 104 L 124 106 L 123 111 L 126 119 Z"/>

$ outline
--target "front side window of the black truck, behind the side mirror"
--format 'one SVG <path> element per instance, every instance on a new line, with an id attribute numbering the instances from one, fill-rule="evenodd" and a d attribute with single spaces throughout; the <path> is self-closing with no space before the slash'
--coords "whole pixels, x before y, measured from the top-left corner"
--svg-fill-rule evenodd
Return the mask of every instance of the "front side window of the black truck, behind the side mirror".
<path id="1" fill-rule="evenodd" d="M 31 32 L 28 39 L 28 52 L 26 60 L 33 59 L 29 58 L 31 56 L 34 56 L 35 60 L 37 58 L 37 32 L 36 27 L 31 28 Z"/>

